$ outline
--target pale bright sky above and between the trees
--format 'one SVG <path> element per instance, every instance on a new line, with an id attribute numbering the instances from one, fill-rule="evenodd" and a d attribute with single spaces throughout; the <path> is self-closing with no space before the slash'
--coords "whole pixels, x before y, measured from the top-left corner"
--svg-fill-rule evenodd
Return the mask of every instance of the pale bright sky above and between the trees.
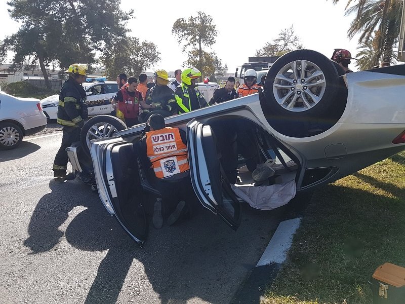
<path id="1" fill-rule="evenodd" d="M 100 0 L 95 0 L 100 1 Z M 102 1 L 102 0 L 101 0 Z M 187 55 L 181 51 L 177 39 L 172 35 L 173 23 L 178 18 L 188 19 L 203 11 L 213 18 L 218 30 L 216 43 L 207 51 L 215 51 L 229 72 L 248 61 L 256 50 L 275 39 L 280 30 L 294 25 L 295 34 L 306 49 L 331 57 L 335 48 L 347 49 L 354 56 L 358 47 L 358 35 L 352 40 L 347 30 L 353 16 L 344 16 L 346 0 L 333 5 L 332 0 L 285 0 L 285 1 L 161 1 L 141 2 L 121 0 L 123 11 L 135 10 L 135 19 L 128 22 L 130 35 L 141 41 L 153 42 L 160 52 L 161 60 L 152 70 L 161 68 L 174 71 L 182 68 Z M 0 0 L 0 20 L 2 20 L 0 40 L 16 32 L 19 24 L 7 12 L 7 0 Z M 10 61 L 12 56 L 9 55 Z M 351 63 L 350 68 L 356 70 Z"/>

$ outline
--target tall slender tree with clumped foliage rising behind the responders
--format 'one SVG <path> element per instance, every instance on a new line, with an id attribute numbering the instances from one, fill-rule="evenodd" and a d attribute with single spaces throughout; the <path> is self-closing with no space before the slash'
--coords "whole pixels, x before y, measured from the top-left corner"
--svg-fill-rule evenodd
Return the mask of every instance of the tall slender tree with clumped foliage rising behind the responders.
<path id="1" fill-rule="evenodd" d="M 197 12 L 197 16 L 190 16 L 187 20 L 179 18 L 175 21 L 172 27 L 172 34 L 177 36 L 179 46 L 183 45 L 183 53 L 188 53 L 190 56 L 196 56 L 196 67 L 204 75 L 207 71 L 204 70 L 205 54 L 208 54 L 203 50 L 203 46 L 211 47 L 215 43 L 218 31 L 210 15 L 206 15 L 204 12 Z M 187 48 L 191 47 L 191 50 L 187 52 Z M 187 60 L 188 62 L 189 60 Z"/>

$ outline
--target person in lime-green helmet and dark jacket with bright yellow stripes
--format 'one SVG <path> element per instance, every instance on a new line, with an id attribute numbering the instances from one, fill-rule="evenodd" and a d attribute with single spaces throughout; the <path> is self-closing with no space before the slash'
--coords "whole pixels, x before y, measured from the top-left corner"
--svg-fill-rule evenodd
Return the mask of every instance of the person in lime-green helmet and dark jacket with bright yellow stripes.
<path id="1" fill-rule="evenodd" d="M 181 73 L 181 84 L 176 88 L 177 111 L 179 114 L 208 106 L 208 102 L 199 93 L 195 85 L 201 72 L 195 67 Z"/>

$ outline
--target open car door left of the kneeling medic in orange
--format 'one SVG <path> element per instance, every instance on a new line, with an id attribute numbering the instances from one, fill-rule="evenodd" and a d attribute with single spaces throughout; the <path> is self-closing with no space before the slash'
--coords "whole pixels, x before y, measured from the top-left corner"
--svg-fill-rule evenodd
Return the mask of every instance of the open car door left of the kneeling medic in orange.
<path id="1" fill-rule="evenodd" d="M 142 247 L 147 235 L 147 220 L 133 144 L 119 138 L 96 141 L 91 143 L 90 153 L 101 201 Z"/>

